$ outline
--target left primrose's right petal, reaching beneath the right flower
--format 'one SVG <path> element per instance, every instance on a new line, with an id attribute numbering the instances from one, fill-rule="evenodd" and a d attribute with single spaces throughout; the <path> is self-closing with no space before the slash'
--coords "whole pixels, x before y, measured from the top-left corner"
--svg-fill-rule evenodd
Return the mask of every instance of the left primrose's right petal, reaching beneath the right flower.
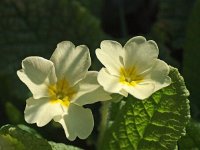
<path id="1" fill-rule="evenodd" d="M 89 71 L 86 77 L 76 85 L 78 93 L 74 98 L 74 103 L 85 105 L 111 99 L 110 95 L 97 82 L 97 74 L 96 71 Z"/>

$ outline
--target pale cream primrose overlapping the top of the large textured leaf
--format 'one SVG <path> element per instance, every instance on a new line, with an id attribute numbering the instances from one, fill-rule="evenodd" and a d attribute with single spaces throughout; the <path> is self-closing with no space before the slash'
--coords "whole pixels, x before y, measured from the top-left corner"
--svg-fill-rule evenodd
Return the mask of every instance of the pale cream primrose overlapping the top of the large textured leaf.
<path id="1" fill-rule="evenodd" d="M 169 66 L 157 58 L 154 41 L 137 36 L 124 47 L 110 40 L 102 41 L 100 47 L 96 55 L 106 68 L 100 70 L 97 80 L 105 91 L 145 99 L 171 83 Z"/>

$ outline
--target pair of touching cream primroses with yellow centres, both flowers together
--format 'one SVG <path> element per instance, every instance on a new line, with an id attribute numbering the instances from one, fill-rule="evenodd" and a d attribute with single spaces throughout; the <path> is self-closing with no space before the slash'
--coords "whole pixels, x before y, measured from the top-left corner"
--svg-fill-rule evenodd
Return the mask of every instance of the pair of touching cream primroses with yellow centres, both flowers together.
<path id="1" fill-rule="evenodd" d="M 96 55 L 106 67 L 99 73 L 88 71 L 88 48 L 75 47 L 69 41 L 59 43 L 50 60 L 25 58 L 17 71 L 32 93 L 26 101 L 25 120 L 39 127 L 54 120 L 69 140 L 85 139 L 94 120 L 91 110 L 83 105 L 109 100 L 111 93 L 145 99 L 171 83 L 168 65 L 157 59 L 156 43 L 144 37 L 134 37 L 124 47 L 115 41 L 102 41 Z"/>

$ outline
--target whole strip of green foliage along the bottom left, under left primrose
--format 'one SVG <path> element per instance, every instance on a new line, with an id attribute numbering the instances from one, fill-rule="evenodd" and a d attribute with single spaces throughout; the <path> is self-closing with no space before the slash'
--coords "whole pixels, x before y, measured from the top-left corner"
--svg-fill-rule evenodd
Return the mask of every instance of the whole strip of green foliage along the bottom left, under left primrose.
<path id="1" fill-rule="evenodd" d="M 0 129 L 1 150 L 81 150 L 62 143 L 48 142 L 35 130 L 20 125 L 5 125 Z"/>

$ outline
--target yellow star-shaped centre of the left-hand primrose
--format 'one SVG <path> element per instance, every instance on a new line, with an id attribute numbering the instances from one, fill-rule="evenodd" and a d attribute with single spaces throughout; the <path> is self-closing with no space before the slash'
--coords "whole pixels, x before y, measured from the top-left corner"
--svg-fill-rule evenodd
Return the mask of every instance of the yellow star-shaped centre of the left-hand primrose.
<path id="1" fill-rule="evenodd" d="M 56 84 L 48 86 L 48 92 L 51 103 L 60 103 L 64 106 L 69 106 L 71 99 L 76 94 L 76 91 L 69 86 L 67 80 L 58 80 Z"/>

